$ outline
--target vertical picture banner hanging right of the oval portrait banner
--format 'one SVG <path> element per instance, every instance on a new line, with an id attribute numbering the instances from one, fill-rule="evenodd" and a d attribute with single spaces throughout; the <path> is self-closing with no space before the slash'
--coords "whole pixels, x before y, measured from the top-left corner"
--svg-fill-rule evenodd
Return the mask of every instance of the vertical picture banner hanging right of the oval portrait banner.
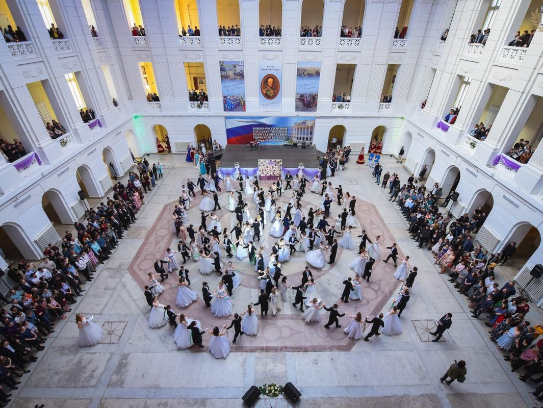
<path id="1" fill-rule="evenodd" d="M 299 61 L 296 70 L 296 112 L 316 112 L 320 61 Z"/>

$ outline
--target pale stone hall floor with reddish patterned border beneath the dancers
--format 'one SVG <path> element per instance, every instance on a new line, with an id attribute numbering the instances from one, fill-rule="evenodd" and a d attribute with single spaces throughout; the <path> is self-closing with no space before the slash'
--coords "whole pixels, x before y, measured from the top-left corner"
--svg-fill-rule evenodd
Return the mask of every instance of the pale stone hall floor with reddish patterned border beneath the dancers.
<path id="1" fill-rule="evenodd" d="M 291 381 L 302 393 L 300 407 L 481 407 L 508 408 L 538 405 L 529 394 L 533 388 L 517 379 L 500 351 L 488 340 L 482 321 L 470 317 L 463 297 L 458 296 L 445 277 L 437 274 L 431 253 L 415 247 L 406 231 L 405 219 L 388 195 L 372 180 L 368 167 L 351 160 L 346 170 L 332 179 L 357 197 L 358 225 L 369 235 L 382 235 L 390 245 L 397 242 L 400 254 L 411 256 L 419 268 L 411 300 L 402 313 L 403 332 L 399 336 L 378 336 L 370 342 L 353 341 L 342 329 L 325 330 L 323 324 L 305 324 L 299 310 L 289 303 L 276 316 L 260 319 L 256 337 L 243 336 L 231 347 L 225 360 L 216 360 L 200 350 L 178 350 L 169 326 L 148 327 L 150 308 L 143 296 L 144 277 L 152 271 L 155 257 L 162 258 L 168 246 L 176 247 L 171 212 L 186 178 L 197 176 L 196 168 L 183 155 L 151 155 L 152 163 L 165 163 L 165 177 L 147 194 L 146 204 L 136 224 L 125 234 L 115 253 L 99 270 L 96 279 L 86 285 L 85 296 L 74 305 L 66 321 L 45 344 L 31 373 L 23 377 L 20 390 L 14 392 L 12 406 L 26 408 L 45 404 L 46 408 L 144 408 L 144 407 L 241 407 L 244 392 L 251 385 L 265 382 L 285 384 Z M 408 174 L 393 158 L 383 158 L 384 171 Z M 223 189 L 224 191 L 224 189 Z M 283 196 L 286 204 L 289 197 Z M 199 224 L 199 196 L 189 215 Z M 223 210 L 218 211 L 223 227 L 232 223 L 221 194 Z M 304 196 L 307 209 L 319 203 L 317 194 Z M 331 214 L 339 207 L 333 204 Z M 233 218 L 235 219 L 235 218 Z M 274 238 L 263 234 L 261 245 L 269 251 Z M 356 242 L 357 244 L 358 242 Z M 340 250 L 337 262 L 315 270 L 319 297 L 327 304 L 338 302 L 341 282 L 353 272 L 349 264 L 355 251 Z M 180 259 L 179 259 L 180 260 Z M 242 285 L 234 292 L 234 311 L 243 311 L 256 301 L 257 281 L 247 261 L 237 261 Z M 298 284 L 305 267 L 303 254 L 295 253 L 283 263 L 288 281 Z M 187 262 L 192 288 L 201 296 L 201 281 L 216 287 L 216 275 L 203 277 L 196 263 Z M 498 271 L 499 272 L 499 271 Z M 375 315 L 387 311 L 396 296 L 399 282 L 392 276 L 392 262 L 377 261 L 370 284 L 364 283 L 362 302 L 339 303 L 339 310 L 351 314 Z M 505 278 L 500 279 L 500 283 Z M 162 303 L 175 298 L 176 274 L 165 281 Z M 201 299 L 182 310 L 198 318 L 203 327 L 230 322 L 211 315 Z M 453 313 L 452 328 L 443 341 L 428 341 L 427 329 L 434 318 Z M 102 343 L 92 348 L 78 347 L 75 313 L 93 315 L 107 331 Z M 323 315 L 323 319 L 327 316 Z M 532 322 L 540 321 L 535 308 Z M 343 327 L 349 323 L 342 318 Z M 204 344 L 209 342 L 205 335 Z M 202 349 L 206 350 L 206 349 Z M 463 384 L 441 384 L 452 360 L 468 363 Z M 292 406 L 284 397 L 260 398 L 256 407 Z"/>

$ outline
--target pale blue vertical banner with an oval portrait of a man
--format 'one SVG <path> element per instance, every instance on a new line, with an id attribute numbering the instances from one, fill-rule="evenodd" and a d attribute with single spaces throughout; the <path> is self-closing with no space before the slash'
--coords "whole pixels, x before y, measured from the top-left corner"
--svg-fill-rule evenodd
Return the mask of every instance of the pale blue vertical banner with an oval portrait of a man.
<path id="1" fill-rule="evenodd" d="M 281 70 L 281 61 L 258 62 L 258 80 L 260 81 L 258 103 L 260 103 L 261 111 L 281 110 Z"/>

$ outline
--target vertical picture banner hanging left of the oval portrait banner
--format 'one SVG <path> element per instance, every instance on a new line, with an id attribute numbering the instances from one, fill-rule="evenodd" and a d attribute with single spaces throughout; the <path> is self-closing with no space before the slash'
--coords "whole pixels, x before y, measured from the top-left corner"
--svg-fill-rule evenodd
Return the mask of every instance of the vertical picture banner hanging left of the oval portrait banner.
<path id="1" fill-rule="evenodd" d="M 245 111 L 245 71 L 243 61 L 219 61 L 220 86 L 225 112 Z"/>

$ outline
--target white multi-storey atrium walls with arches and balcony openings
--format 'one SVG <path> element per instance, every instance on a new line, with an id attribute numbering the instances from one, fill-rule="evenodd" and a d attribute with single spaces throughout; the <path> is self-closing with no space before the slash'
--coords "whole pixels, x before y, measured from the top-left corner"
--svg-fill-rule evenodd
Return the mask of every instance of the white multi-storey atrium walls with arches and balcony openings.
<path id="1" fill-rule="evenodd" d="M 78 191 L 103 197 L 109 164 L 127 173 L 130 152 L 156 152 L 156 139 L 167 135 L 173 154 L 209 135 L 226 145 L 232 114 L 223 109 L 219 61 L 228 60 L 244 63 L 245 110 L 236 116 L 314 117 L 319 150 L 334 127 L 354 150 L 367 151 L 375 138 L 383 154 L 403 146 L 409 171 L 427 165 L 427 186 L 439 183 L 444 194 L 454 186 L 454 216 L 491 210 L 477 241 L 500 252 L 515 240 L 516 279 L 525 282 L 543 263 L 543 150 L 515 168 L 500 155 L 520 139 L 534 148 L 543 136 L 543 33 L 531 17 L 538 8 L 535 0 L 0 0 L 0 26 L 26 36 L 0 45 L 0 136 L 21 141 L 27 155 L 17 162 L 30 158 L 24 168 L 0 159 L 0 247 L 7 258 L 39 258 L 62 225 L 83 216 Z M 49 36 L 51 23 L 62 38 Z M 132 35 L 134 24 L 145 35 Z M 281 27 L 281 36 L 258 36 L 261 24 Z M 189 25 L 199 37 L 180 35 Z M 219 26 L 239 26 L 241 35 L 219 36 Z M 321 27 L 321 36 L 301 37 L 304 26 Z M 340 35 L 342 26 L 361 27 L 361 37 Z M 468 43 L 481 28 L 490 28 L 484 45 Z M 529 47 L 509 46 L 525 29 L 535 30 Z M 262 61 L 280 63 L 280 111 L 258 101 Z M 296 110 L 302 62 L 320 64 L 315 111 Z M 189 100 L 195 86 L 205 103 Z M 337 93 L 350 102 L 333 102 Z M 99 125 L 81 121 L 89 108 Z M 453 108 L 461 109 L 445 132 L 438 125 Z M 52 120 L 66 130 L 56 139 L 45 126 Z M 484 141 L 469 133 L 479 122 L 492 125 Z M 543 281 L 530 294 L 543 303 Z"/>

